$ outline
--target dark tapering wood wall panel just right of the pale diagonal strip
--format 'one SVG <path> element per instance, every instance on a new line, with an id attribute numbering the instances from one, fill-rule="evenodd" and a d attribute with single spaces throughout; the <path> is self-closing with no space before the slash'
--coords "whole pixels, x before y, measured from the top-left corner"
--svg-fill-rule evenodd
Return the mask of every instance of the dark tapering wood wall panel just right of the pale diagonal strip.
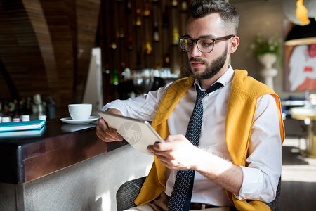
<path id="1" fill-rule="evenodd" d="M 72 42 L 72 27 L 68 5 L 62 0 L 41 0 L 48 30 L 51 34 L 51 43 L 55 57 L 56 72 L 58 75 L 58 95 L 60 96 L 60 111 L 67 115 L 67 104 L 71 103 L 74 87 L 74 44 Z M 68 12 L 68 13 L 67 13 Z"/>

